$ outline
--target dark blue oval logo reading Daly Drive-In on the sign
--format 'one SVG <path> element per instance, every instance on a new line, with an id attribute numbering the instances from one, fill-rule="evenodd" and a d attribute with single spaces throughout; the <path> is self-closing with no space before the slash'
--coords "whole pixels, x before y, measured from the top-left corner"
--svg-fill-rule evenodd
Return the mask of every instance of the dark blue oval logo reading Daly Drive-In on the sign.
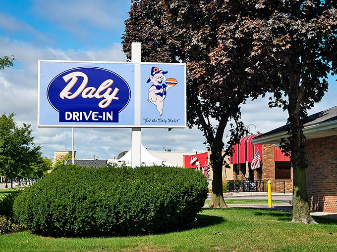
<path id="1" fill-rule="evenodd" d="M 126 81 L 98 67 L 79 67 L 57 75 L 47 96 L 59 112 L 59 122 L 118 122 L 118 114 L 130 101 Z"/>

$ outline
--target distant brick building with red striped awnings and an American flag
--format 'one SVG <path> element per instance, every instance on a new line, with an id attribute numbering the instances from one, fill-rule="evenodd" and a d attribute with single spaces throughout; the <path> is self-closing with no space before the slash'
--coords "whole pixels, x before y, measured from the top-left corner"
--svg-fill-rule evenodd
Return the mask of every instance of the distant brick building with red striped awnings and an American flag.
<path id="1" fill-rule="evenodd" d="M 251 140 L 255 136 L 258 135 L 243 137 L 240 143 L 234 146 L 234 155 L 225 157 L 227 163 L 229 160 L 229 168 L 223 167 L 223 180 L 233 180 L 236 177 L 244 181 L 261 180 L 262 182 L 259 182 L 259 185 L 255 188 L 256 191 L 266 191 L 267 180 L 272 180 L 272 190 L 275 189 L 273 192 L 291 193 L 293 177 L 290 159 L 285 157 L 280 148 L 275 147 L 273 144 L 252 144 Z M 251 162 L 258 149 L 262 156 L 262 168 L 252 170 Z M 199 164 L 199 169 L 203 171 L 206 164 L 209 167 L 207 173 L 211 182 L 213 180 L 213 170 L 209 165 L 210 154 L 211 151 L 184 155 L 183 168 L 198 168 Z M 246 172 L 247 169 L 248 173 Z"/>

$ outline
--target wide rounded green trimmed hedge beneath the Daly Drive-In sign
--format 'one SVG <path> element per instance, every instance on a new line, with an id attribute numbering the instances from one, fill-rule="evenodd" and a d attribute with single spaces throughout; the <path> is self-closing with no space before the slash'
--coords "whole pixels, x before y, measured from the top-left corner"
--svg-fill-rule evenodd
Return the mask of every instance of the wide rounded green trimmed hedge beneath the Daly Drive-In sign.
<path id="1" fill-rule="evenodd" d="M 190 222 L 207 197 L 191 169 L 59 168 L 14 201 L 14 217 L 33 232 L 93 237 L 168 232 Z"/>

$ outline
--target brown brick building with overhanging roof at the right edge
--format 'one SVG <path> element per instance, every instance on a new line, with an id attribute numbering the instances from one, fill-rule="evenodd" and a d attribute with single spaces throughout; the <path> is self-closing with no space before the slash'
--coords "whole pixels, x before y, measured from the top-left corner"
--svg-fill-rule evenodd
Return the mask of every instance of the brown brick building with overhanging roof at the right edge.
<path id="1" fill-rule="evenodd" d="M 278 144 L 289 125 L 255 137 L 254 144 Z M 337 106 L 313 114 L 304 124 L 310 210 L 337 212 Z"/>

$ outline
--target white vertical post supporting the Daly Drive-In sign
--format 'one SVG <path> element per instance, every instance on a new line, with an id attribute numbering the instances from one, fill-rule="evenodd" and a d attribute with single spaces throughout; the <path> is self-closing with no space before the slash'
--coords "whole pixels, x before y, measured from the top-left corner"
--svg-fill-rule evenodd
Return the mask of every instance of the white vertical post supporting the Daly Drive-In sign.
<path id="1" fill-rule="evenodd" d="M 141 63 L 141 49 L 139 42 L 133 42 L 131 44 L 131 62 L 139 63 L 135 64 L 135 125 L 140 125 L 140 63 Z M 131 167 L 140 167 L 141 165 L 141 134 L 142 129 L 140 127 L 132 127 L 132 143 L 131 143 Z"/>

